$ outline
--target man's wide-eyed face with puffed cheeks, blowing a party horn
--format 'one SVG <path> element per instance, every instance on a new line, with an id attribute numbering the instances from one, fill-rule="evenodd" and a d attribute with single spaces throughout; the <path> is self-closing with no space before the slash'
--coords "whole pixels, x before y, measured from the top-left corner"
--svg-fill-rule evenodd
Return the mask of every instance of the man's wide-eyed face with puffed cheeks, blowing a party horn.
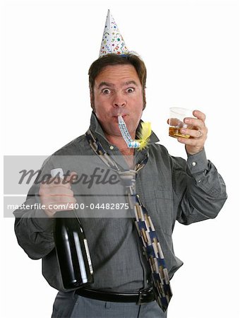
<path id="1" fill-rule="evenodd" d="M 135 138 L 143 113 L 143 89 L 132 65 L 106 66 L 95 78 L 91 96 L 97 119 L 110 136 L 121 136 L 118 115 L 124 118 L 128 131 Z"/>

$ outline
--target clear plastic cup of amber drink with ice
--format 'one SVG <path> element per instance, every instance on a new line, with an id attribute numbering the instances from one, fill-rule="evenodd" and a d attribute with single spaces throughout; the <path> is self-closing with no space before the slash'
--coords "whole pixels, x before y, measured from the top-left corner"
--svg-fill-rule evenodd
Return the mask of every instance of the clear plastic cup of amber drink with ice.
<path id="1" fill-rule="evenodd" d="M 171 107 L 170 108 L 170 115 L 169 115 L 169 136 L 174 138 L 191 138 L 190 135 L 181 134 L 181 128 L 193 128 L 192 125 L 185 124 L 184 118 L 186 117 L 193 117 L 193 111 L 188 110 L 187 108 L 181 107 Z"/>

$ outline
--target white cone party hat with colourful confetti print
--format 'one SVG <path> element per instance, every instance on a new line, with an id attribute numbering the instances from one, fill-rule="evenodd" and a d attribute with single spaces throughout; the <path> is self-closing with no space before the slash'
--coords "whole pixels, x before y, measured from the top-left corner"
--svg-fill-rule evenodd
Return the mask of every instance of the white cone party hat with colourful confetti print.
<path id="1" fill-rule="evenodd" d="M 99 57 L 109 53 L 128 54 L 128 52 L 124 39 L 119 32 L 119 28 L 116 25 L 112 14 L 108 11 Z"/>

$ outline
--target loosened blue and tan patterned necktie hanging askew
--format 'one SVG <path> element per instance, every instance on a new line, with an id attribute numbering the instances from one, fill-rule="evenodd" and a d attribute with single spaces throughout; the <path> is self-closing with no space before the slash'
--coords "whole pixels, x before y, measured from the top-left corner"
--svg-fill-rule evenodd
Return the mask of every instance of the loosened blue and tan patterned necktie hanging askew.
<path id="1" fill-rule="evenodd" d="M 129 206 L 133 208 L 135 214 L 135 225 L 140 237 L 141 245 L 143 245 L 143 252 L 148 259 L 150 269 L 152 272 L 153 291 L 155 293 L 155 300 L 157 304 L 165 312 L 172 298 L 172 290 L 169 282 L 169 276 L 164 261 L 164 255 L 160 242 L 157 239 L 154 225 L 148 212 L 141 203 L 138 194 L 136 194 L 136 175 L 148 162 L 148 155 L 136 165 L 135 170 L 123 170 L 116 164 L 115 160 L 104 151 L 100 141 L 88 129 L 85 134 L 92 150 L 99 155 L 102 161 L 116 173 L 126 187 L 126 194 L 128 196 Z"/>

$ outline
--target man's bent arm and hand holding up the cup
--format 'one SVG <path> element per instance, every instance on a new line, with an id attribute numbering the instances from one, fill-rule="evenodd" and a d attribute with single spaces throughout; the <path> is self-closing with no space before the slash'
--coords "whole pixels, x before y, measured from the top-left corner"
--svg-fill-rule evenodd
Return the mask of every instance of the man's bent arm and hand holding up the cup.
<path id="1" fill-rule="evenodd" d="M 191 138 L 178 138 L 180 143 L 185 144 L 187 164 L 173 159 L 177 220 L 184 224 L 215 218 L 227 199 L 224 181 L 205 155 L 204 145 L 208 135 L 205 114 L 194 110 L 193 115 L 196 118 L 184 119 L 184 123 L 191 128 L 181 128 L 181 133 Z"/>

